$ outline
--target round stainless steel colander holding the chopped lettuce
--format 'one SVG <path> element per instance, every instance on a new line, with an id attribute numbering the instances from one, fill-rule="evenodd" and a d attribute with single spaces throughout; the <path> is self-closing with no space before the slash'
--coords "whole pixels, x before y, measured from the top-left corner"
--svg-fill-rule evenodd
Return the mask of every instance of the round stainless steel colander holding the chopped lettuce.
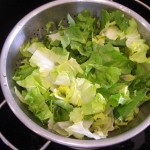
<path id="1" fill-rule="evenodd" d="M 120 4 L 105 0 L 61 0 L 47 3 L 26 15 L 13 28 L 6 39 L 1 54 L 1 87 L 4 96 L 13 113 L 32 131 L 42 137 L 74 148 L 98 148 L 125 141 L 150 125 L 150 102 L 143 105 L 138 116 L 127 127 L 112 132 L 108 138 L 102 140 L 77 140 L 62 137 L 47 130 L 18 100 L 14 93 L 12 76 L 20 61 L 19 47 L 34 37 L 42 38 L 45 34 L 45 24 L 48 21 L 66 21 L 68 13 L 75 15 L 83 9 L 89 9 L 94 15 L 99 15 L 100 9 L 120 9 L 127 17 L 134 17 L 139 31 L 150 45 L 150 24 L 140 15 Z"/>

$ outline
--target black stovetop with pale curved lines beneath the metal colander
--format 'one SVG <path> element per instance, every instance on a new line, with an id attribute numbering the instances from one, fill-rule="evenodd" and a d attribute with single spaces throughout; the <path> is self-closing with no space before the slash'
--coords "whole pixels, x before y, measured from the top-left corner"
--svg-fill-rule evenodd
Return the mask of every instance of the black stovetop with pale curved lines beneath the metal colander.
<path id="1" fill-rule="evenodd" d="M 143 16 L 150 22 L 150 11 L 133 0 L 114 0 L 121 3 Z M 148 5 L 149 0 L 142 0 Z M 27 13 L 50 0 L 0 0 L 0 50 L 3 43 L 15 26 Z M 0 104 L 5 103 L 0 89 Z M 2 105 L 1 105 L 2 106 Z M 3 136 L 2 136 L 3 135 Z M 20 150 L 71 150 L 66 146 L 47 141 L 24 126 L 12 113 L 5 103 L 0 109 L 0 150 L 18 148 Z M 7 141 L 15 147 L 8 147 Z M 9 145 L 9 144 L 8 144 Z M 117 145 L 101 148 L 101 150 L 149 150 L 150 127 L 137 136 Z"/>

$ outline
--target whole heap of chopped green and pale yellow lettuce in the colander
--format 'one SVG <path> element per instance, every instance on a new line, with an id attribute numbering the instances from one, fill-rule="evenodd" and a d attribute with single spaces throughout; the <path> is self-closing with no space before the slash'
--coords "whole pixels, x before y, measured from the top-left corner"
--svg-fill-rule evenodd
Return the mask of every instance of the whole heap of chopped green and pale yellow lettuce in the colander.
<path id="1" fill-rule="evenodd" d="M 58 134 L 102 139 L 150 100 L 149 46 L 120 10 L 85 9 L 20 47 L 15 93 Z"/>

